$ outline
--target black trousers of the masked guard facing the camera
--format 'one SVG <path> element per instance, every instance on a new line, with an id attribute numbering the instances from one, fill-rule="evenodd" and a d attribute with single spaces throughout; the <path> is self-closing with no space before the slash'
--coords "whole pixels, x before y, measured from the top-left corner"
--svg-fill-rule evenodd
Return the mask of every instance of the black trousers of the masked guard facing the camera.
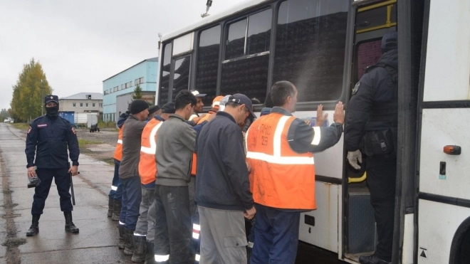
<path id="1" fill-rule="evenodd" d="M 51 189 L 52 179 L 56 181 L 57 191 L 61 196 L 61 211 L 73 211 L 71 194 L 68 192 L 71 186 L 71 179 L 68 175 L 68 168 L 61 169 L 36 169 L 36 174 L 41 180 L 41 184 L 34 189 L 33 207 L 31 214 L 42 214 L 46 199 Z"/>

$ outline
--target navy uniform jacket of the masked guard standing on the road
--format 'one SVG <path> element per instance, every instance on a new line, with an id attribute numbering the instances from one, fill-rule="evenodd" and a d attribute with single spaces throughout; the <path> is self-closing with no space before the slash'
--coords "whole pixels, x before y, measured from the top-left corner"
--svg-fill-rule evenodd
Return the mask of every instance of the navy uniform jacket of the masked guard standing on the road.
<path id="1" fill-rule="evenodd" d="M 80 149 L 73 125 L 62 117 L 38 117 L 31 122 L 26 135 L 26 167 L 36 165 L 41 169 L 67 168 L 67 147 L 72 165 L 78 166 Z"/>

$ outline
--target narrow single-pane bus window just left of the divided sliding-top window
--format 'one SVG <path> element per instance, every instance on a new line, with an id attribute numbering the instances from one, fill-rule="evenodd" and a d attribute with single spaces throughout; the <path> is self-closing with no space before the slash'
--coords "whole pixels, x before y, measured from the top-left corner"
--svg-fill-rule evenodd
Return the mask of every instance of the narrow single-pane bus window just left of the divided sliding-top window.
<path id="1" fill-rule="evenodd" d="M 199 34 L 195 90 L 207 94 L 203 99 L 204 105 L 211 105 L 216 96 L 219 49 L 220 26 L 206 29 Z"/>

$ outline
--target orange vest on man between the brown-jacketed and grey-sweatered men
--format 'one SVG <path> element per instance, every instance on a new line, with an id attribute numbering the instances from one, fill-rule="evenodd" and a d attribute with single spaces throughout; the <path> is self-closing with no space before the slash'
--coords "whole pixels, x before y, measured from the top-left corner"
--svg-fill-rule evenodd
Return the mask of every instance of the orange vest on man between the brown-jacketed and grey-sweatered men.
<path id="1" fill-rule="evenodd" d="M 163 124 L 160 120 L 152 118 L 142 131 L 140 142 L 139 175 L 142 184 L 150 184 L 155 181 L 157 175 L 157 162 L 155 151 L 157 150 L 157 131 Z"/>

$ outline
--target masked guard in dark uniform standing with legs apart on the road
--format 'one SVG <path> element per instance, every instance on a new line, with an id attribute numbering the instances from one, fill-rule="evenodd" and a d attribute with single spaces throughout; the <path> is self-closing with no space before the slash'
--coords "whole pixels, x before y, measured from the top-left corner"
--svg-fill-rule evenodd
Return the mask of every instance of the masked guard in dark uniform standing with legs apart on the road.
<path id="1" fill-rule="evenodd" d="M 57 191 L 61 196 L 61 211 L 66 218 L 66 231 L 78 233 L 78 228 L 72 222 L 73 206 L 69 173 L 73 176 L 78 173 L 78 140 L 73 125 L 67 120 L 58 117 L 57 95 L 47 95 L 44 99 L 46 115 L 36 118 L 28 129 L 26 136 L 26 159 L 28 177 L 38 176 L 41 183 L 34 189 L 33 223 L 26 232 L 26 236 L 35 236 L 39 232 L 38 221 L 43 213 L 44 205 L 51 189 L 52 178 L 55 177 Z M 36 149 L 37 148 L 37 149 Z M 68 151 L 72 160 L 72 167 L 68 165 Z M 36 154 L 36 160 L 34 156 Z"/>

